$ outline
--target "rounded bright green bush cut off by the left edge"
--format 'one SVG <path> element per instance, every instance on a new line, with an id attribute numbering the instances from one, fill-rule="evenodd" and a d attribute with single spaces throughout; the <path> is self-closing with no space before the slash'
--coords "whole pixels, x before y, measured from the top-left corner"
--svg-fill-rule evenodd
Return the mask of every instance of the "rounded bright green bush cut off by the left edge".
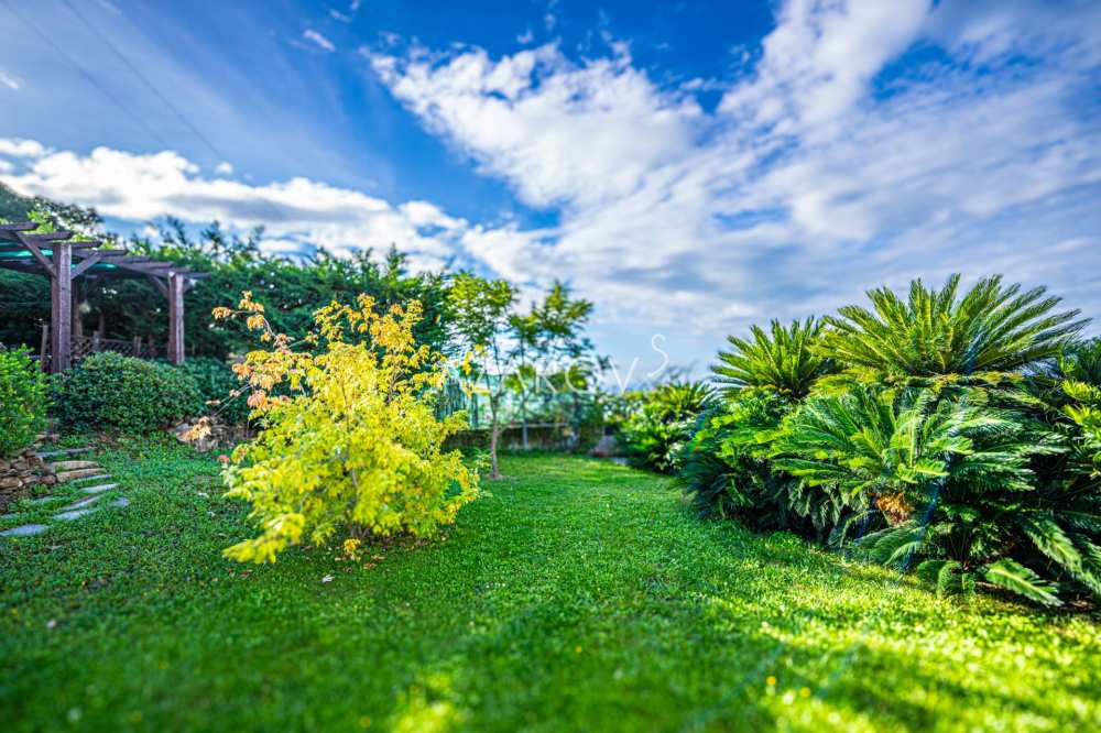
<path id="1" fill-rule="evenodd" d="M 45 428 L 46 385 L 24 352 L 0 349 L 0 458 L 26 448 Z"/>

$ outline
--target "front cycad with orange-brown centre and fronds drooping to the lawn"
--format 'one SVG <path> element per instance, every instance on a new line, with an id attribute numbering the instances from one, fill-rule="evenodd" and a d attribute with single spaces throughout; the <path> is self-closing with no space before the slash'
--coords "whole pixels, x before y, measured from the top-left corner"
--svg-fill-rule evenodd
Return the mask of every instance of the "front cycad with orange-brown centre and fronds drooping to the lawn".
<path id="1" fill-rule="evenodd" d="M 876 560 L 918 562 L 946 591 L 983 580 L 1059 605 L 1061 591 L 1101 594 L 1101 492 L 1036 481 L 1031 460 L 1057 442 L 978 390 L 864 387 L 808 398 L 784 420 L 773 468 L 893 514 L 860 540 Z"/>

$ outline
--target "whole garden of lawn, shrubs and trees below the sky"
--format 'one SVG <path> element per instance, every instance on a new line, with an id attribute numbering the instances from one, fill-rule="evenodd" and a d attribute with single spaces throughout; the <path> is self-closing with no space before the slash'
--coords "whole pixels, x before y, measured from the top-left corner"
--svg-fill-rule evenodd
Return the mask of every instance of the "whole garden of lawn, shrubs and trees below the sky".
<path id="1" fill-rule="evenodd" d="M 6 730 L 1101 726 L 1101 340 L 1044 288 L 877 287 L 624 391 L 562 283 L 127 249 L 209 273 L 182 363 L 44 373 L 0 271 Z"/>

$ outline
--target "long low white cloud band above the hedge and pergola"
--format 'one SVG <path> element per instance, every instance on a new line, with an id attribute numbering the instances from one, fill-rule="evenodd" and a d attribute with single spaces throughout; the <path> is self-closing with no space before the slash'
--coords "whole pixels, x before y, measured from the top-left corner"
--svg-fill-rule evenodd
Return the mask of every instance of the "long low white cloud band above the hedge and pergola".
<path id="1" fill-rule="evenodd" d="M 219 173 L 227 165 L 219 165 Z M 98 147 L 80 155 L 0 138 L 0 166 L 6 183 L 23 194 L 77 201 L 135 223 L 172 215 L 192 223 L 218 219 L 240 229 L 263 226 L 273 251 L 316 245 L 347 254 L 395 244 L 414 266 L 437 267 L 472 231 L 465 220 L 425 201 L 394 207 L 308 178 L 262 186 L 205 178 L 198 166 L 171 151 L 134 154 Z"/>

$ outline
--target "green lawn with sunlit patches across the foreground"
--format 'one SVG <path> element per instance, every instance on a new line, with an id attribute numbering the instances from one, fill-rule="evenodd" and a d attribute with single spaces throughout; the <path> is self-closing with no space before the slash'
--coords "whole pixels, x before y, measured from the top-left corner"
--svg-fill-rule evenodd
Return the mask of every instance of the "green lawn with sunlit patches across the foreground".
<path id="1" fill-rule="evenodd" d="M 212 460 L 99 459 L 130 507 L 0 540 L 6 731 L 1101 727 L 1095 619 L 940 600 L 628 468 L 509 458 L 435 543 L 244 567 Z"/>

